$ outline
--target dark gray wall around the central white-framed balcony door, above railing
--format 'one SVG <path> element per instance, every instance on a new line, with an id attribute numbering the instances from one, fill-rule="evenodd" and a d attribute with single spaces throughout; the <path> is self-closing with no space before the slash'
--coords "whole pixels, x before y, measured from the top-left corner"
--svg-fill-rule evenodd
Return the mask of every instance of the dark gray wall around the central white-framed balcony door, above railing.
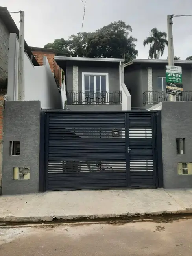
<path id="1" fill-rule="evenodd" d="M 109 73 L 109 91 L 119 91 L 119 63 L 105 62 L 74 62 L 67 65 L 67 91 L 73 91 L 73 65 L 78 66 L 78 90 L 82 91 L 82 73 Z"/>

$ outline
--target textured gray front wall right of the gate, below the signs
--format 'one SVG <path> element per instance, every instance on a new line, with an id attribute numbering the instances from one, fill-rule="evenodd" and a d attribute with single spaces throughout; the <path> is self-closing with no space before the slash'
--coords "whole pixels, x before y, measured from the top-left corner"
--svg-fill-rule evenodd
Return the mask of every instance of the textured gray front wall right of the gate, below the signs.
<path id="1" fill-rule="evenodd" d="M 176 139 L 185 138 L 185 155 Z M 192 102 L 162 102 L 162 158 L 165 188 L 191 188 L 192 175 L 178 175 L 177 163 L 192 162 Z"/>

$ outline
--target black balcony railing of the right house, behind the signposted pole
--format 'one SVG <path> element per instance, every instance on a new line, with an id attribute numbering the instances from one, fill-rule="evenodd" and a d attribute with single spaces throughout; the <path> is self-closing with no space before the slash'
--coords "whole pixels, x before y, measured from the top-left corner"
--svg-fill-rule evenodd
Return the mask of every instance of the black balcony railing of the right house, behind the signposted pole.
<path id="1" fill-rule="evenodd" d="M 143 105 L 155 105 L 167 101 L 168 95 L 164 91 L 146 91 L 143 93 Z M 192 101 L 192 91 L 183 91 L 182 96 L 176 96 L 177 101 Z"/>

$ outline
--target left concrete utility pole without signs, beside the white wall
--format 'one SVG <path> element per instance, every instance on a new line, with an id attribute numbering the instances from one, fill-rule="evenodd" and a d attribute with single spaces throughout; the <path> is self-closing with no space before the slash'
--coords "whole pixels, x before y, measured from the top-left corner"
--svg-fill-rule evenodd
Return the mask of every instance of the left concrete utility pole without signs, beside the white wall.
<path id="1" fill-rule="evenodd" d="M 24 77 L 24 11 L 20 11 L 19 26 L 19 55 L 18 55 L 18 100 L 25 100 L 25 77 Z"/>

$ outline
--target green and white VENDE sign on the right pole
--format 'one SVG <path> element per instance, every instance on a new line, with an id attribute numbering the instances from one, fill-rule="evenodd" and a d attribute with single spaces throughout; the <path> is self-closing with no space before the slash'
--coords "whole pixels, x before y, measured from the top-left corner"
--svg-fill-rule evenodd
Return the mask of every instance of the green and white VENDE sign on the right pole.
<path id="1" fill-rule="evenodd" d="M 182 83 L 182 69 L 179 66 L 166 66 L 166 82 Z"/>

